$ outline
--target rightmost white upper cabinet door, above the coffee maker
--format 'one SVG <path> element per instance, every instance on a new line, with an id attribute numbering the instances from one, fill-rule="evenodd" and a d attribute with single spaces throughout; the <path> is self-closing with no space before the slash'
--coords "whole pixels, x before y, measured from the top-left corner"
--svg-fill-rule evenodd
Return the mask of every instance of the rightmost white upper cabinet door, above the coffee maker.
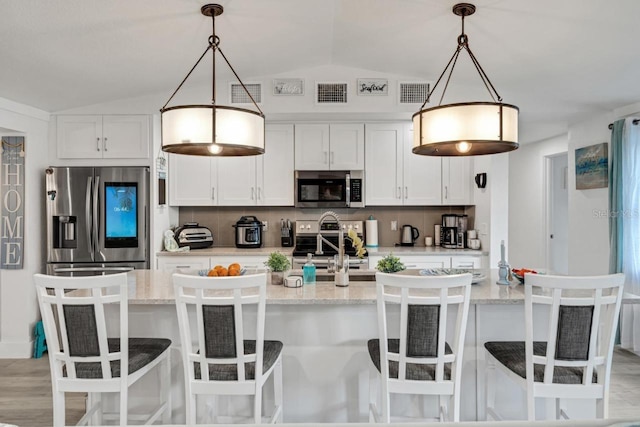
<path id="1" fill-rule="evenodd" d="M 442 203 L 470 205 L 473 203 L 470 157 L 442 158 Z"/>

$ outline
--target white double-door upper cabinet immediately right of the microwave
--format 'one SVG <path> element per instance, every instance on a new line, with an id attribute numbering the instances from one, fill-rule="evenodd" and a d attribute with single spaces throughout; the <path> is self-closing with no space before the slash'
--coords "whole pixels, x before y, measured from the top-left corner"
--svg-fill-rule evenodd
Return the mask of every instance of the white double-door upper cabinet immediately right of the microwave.
<path id="1" fill-rule="evenodd" d="M 367 124 L 367 205 L 442 204 L 440 159 L 411 152 L 410 126 L 407 123 Z"/>

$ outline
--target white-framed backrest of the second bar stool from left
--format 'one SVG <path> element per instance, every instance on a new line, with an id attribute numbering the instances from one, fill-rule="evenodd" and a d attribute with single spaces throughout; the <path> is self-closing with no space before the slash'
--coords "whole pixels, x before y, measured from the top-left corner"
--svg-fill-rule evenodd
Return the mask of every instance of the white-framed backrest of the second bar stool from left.
<path id="1" fill-rule="evenodd" d="M 266 284 L 265 273 L 232 277 L 173 275 L 185 377 L 189 381 L 218 381 L 206 373 L 231 367 L 232 375 L 226 375 L 225 382 L 253 382 L 247 380 L 245 372 L 245 363 L 251 362 L 255 362 L 254 378 L 262 376 Z M 251 305 L 257 306 L 253 325 L 249 320 L 253 312 L 246 310 Z M 190 311 L 196 318 L 193 331 Z M 244 354 L 247 336 L 256 340 L 255 353 Z"/>

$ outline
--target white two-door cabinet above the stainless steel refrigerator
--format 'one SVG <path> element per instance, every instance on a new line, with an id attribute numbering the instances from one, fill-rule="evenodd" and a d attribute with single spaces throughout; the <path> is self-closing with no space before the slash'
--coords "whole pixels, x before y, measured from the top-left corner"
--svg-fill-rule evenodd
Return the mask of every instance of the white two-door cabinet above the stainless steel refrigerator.
<path id="1" fill-rule="evenodd" d="M 148 159 L 149 146 L 146 115 L 57 117 L 60 159 Z"/>

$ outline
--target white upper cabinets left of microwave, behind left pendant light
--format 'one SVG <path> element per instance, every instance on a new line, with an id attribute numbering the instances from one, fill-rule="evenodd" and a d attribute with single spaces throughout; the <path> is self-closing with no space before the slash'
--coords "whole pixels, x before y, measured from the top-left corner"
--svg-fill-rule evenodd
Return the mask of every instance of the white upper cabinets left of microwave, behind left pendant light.
<path id="1" fill-rule="evenodd" d="M 172 206 L 293 206 L 293 125 L 266 125 L 265 154 L 170 155 Z"/>

